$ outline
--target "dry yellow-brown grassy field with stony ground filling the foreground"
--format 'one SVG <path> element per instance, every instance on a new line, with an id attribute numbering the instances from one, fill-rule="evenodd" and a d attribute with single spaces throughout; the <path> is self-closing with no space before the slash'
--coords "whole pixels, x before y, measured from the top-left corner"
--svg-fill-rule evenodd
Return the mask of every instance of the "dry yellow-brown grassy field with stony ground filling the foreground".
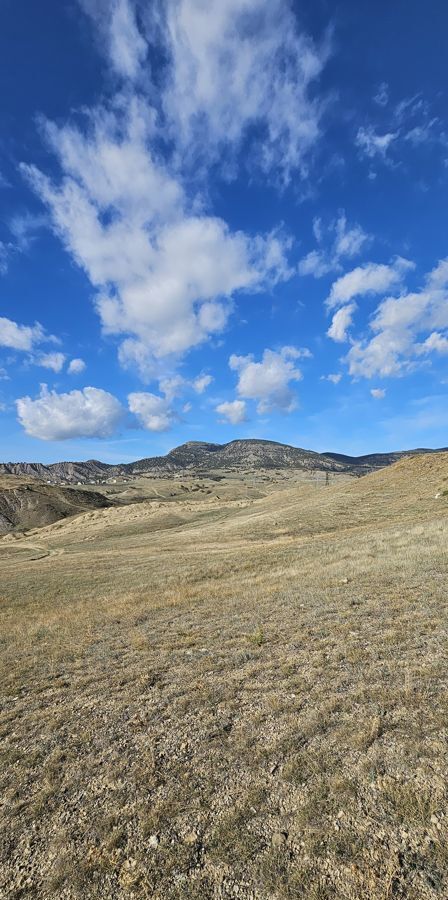
<path id="1" fill-rule="evenodd" d="M 446 900 L 448 454 L 173 485 L 0 540 L 0 895 Z"/>

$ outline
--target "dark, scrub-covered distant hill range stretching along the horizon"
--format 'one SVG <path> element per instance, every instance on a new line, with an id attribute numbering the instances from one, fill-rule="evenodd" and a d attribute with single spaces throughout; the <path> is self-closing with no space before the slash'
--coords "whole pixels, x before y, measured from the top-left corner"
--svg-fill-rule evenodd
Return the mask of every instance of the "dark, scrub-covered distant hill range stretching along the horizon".
<path id="1" fill-rule="evenodd" d="M 250 472 L 272 469 L 302 471 L 346 472 L 364 475 L 389 466 L 403 456 L 435 451 L 419 448 L 393 453 L 374 453 L 366 456 L 346 456 L 342 453 L 316 453 L 281 444 L 277 441 L 245 439 L 227 444 L 188 441 L 170 450 L 166 456 L 152 456 L 133 463 L 110 465 L 90 459 L 87 462 L 2 463 L 0 475 L 38 478 L 50 484 L 100 484 L 116 477 L 135 475 L 166 475 L 175 473 L 206 473 L 213 470 Z"/>

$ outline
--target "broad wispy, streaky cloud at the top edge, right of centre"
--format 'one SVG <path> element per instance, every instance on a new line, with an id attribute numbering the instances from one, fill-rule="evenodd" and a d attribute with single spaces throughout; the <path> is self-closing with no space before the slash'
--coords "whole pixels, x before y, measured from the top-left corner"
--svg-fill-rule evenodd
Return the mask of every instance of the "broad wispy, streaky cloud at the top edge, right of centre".
<path id="1" fill-rule="evenodd" d="M 182 153 L 210 162 L 247 141 L 264 171 L 284 181 L 303 171 L 320 133 L 313 94 L 329 47 L 299 31 L 288 0 L 162 2 L 158 24 L 169 57 L 164 110 Z"/>

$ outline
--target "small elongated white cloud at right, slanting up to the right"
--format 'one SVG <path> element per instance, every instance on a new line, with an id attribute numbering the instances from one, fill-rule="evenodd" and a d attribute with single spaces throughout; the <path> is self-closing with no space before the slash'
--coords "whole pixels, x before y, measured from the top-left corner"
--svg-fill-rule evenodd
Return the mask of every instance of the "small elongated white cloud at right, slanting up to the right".
<path id="1" fill-rule="evenodd" d="M 382 294 L 400 285 L 405 275 L 415 268 L 408 259 L 397 256 L 389 265 L 366 263 L 338 278 L 326 301 L 329 309 L 349 303 L 355 297 Z"/>

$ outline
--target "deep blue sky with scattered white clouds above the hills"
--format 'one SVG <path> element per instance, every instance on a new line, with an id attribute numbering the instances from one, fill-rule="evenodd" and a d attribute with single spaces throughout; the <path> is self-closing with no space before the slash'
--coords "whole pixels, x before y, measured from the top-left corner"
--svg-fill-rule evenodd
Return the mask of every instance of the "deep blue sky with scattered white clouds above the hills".
<path id="1" fill-rule="evenodd" d="M 448 444 L 447 25 L 3 0 L 0 459 Z"/>

